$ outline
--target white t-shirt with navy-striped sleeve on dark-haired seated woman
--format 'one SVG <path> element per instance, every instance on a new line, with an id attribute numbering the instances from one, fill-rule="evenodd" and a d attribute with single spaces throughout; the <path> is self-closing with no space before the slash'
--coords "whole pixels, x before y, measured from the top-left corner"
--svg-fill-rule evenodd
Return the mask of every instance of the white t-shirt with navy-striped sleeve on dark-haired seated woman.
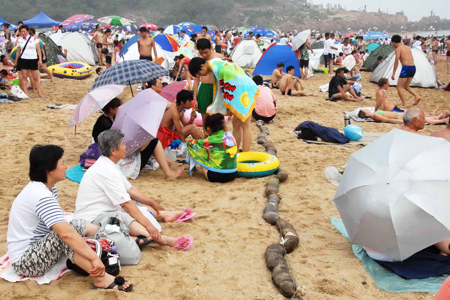
<path id="1" fill-rule="evenodd" d="M 30 245 L 50 232 L 52 225 L 66 222 L 57 196 L 54 185 L 50 191 L 44 183 L 30 181 L 15 197 L 6 238 L 11 262 L 19 260 Z"/>

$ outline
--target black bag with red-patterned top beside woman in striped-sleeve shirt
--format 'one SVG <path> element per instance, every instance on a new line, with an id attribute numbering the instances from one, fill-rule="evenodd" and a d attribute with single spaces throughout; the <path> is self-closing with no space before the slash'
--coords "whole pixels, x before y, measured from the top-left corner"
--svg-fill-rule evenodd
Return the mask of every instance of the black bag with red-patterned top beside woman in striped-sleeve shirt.
<path id="1" fill-rule="evenodd" d="M 90 246 L 95 254 L 100 258 L 104 264 L 104 271 L 112 276 L 118 275 L 120 272 L 119 254 L 117 253 L 113 241 L 104 236 L 104 234 L 96 234 L 95 237 L 83 237 L 86 243 Z M 65 265 L 77 273 L 88 276 L 85 270 L 74 264 L 67 258 Z"/>

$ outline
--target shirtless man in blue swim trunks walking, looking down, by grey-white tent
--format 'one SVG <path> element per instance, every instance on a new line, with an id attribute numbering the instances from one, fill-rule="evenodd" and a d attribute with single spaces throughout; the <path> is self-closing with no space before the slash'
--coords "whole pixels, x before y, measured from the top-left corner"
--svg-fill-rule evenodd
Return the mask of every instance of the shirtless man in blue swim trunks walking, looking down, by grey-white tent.
<path id="1" fill-rule="evenodd" d="M 409 83 L 411 83 L 412 77 L 414 77 L 415 74 L 415 65 L 414 59 L 412 58 L 411 49 L 401 42 L 401 36 L 398 34 L 393 35 L 391 41 L 392 45 L 395 48 L 395 61 L 391 79 L 394 80 L 395 71 L 397 70 L 398 67 L 398 61 L 400 61 L 401 71 L 397 80 L 398 96 L 400 97 L 402 105 L 406 107 L 406 100 L 404 98 L 403 93 L 404 88 L 414 96 L 414 103 L 412 103 L 412 105 L 417 105 L 421 98 L 409 86 Z"/>

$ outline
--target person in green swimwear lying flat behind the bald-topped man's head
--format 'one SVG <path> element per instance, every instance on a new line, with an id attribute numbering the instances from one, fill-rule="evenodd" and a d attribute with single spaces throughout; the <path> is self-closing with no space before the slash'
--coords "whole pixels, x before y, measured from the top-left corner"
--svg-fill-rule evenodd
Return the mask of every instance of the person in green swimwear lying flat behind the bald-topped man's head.
<path id="1" fill-rule="evenodd" d="M 448 115 L 446 112 L 442 112 L 438 115 L 434 113 L 425 112 L 425 122 L 429 124 L 438 124 L 443 122 L 448 122 Z M 370 111 L 370 109 L 361 109 L 358 112 L 358 117 L 360 118 L 371 118 L 375 121 L 402 123 L 404 112 L 386 111 L 386 110 L 376 110 L 375 112 Z"/>

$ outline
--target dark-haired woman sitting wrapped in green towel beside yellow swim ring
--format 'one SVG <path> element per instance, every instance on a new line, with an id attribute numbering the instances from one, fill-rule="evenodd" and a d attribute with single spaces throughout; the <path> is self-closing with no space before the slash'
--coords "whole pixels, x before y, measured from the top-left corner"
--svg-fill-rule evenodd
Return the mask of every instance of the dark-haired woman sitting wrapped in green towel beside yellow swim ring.
<path id="1" fill-rule="evenodd" d="M 192 170 L 199 164 L 210 182 L 229 182 L 237 174 L 237 146 L 231 132 L 226 131 L 223 114 L 208 115 L 204 120 L 208 133 L 205 139 L 191 139 L 187 142 L 186 160 Z"/>

